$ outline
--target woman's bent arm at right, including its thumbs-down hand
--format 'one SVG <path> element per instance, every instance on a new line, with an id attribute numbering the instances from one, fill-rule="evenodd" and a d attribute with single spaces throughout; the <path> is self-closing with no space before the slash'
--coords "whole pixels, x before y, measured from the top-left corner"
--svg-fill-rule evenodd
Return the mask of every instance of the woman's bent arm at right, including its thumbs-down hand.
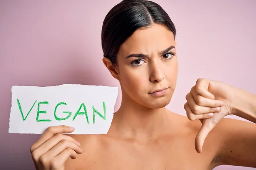
<path id="1" fill-rule="evenodd" d="M 188 118 L 200 119 L 202 122 L 202 127 L 195 139 L 195 148 L 198 153 L 202 152 L 204 140 L 214 128 L 212 133 L 217 133 L 219 142 L 215 162 L 256 167 L 255 95 L 224 82 L 198 79 L 186 99 L 184 108 Z M 214 111 L 215 108 L 221 108 L 221 111 Z M 206 114 L 211 112 L 214 115 L 207 117 Z M 251 122 L 224 118 L 230 114 Z"/>

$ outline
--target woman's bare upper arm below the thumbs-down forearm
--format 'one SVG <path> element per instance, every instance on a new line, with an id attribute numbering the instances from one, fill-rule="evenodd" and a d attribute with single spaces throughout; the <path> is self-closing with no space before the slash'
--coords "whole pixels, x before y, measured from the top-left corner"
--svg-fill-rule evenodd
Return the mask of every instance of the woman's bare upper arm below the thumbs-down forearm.
<path id="1" fill-rule="evenodd" d="M 216 127 L 221 145 L 215 159 L 220 164 L 256 167 L 256 125 L 224 118 Z"/>

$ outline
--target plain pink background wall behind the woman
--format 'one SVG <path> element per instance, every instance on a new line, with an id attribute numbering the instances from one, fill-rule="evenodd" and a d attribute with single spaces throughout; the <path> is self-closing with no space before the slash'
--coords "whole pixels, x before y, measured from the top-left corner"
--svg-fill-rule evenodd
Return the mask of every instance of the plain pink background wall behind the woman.
<path id="1" fill-rule="evenodd" d="M 8 133 L 12 85 L 119 86 L 102 63 L 101 48 L 103 19 L 119 2 L 0 1 L 1 169 L 33 169 L 29 148 L 39 137 Z M 179 75 L 170 110 L 185 115 L 185 95 L 200 77 L 256 94 L 256 0 L 155 2 L 177 28 Z M 115 109 L 119 105 L 120 96 Z M 215 168 L 231 169 L 251 168 Z"/>

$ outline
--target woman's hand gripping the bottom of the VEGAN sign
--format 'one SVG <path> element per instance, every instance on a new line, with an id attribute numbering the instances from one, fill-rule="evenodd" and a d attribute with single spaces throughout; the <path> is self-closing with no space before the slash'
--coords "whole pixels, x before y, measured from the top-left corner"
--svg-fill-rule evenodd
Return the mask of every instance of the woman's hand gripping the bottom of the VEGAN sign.
<path id="1" fill-rule="evenodd" d="M 73 127 L 65 125 L 48 127 L 44 131 L 30 148 L 37 170 L 64 170 L 65 161 L 69 157 L 76 159 L 77 153 L 82 153 L 79 142 L 61 134 L 73 131 Z"/>

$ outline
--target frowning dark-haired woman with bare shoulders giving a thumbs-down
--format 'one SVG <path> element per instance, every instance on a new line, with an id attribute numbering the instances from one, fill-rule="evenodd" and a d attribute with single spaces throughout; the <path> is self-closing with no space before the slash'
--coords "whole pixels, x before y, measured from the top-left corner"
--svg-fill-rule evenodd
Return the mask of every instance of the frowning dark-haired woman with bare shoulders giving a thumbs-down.
<path id="1" fill-rule="evenodd" d="M 122 103 L 114 113 L 108 134 L 68 136 L 61 133 L 72 132 L 72 127 L 49 127 L 31 147 L 35 167 L 38 170 L 207 170 L 221 164 L 256 167 L 256 126 L 222 119 L 234 109 L 229 97 L 218 95 L 220 88 L 212 88 L 218 87 L 217 82 L 209 86 L 215 91 L 211 94 L 214 99 L 201 94 L 198 91 L 201 88 L 192 88 L 186 96 L 189 119 L 201 119 L 203 126 L 198 120 L 190 121 L 165 108 L 177 79 L 175 34 L 172 20 L 156 3 L 123 0 L 114 6 L 102 27 L 103 63 L 120 82 Z M 198 86 L 200 82 L 206 87 L 204 82 L 210 85 L 213 81 L 200 79 Z M 219 87 L 231 89 L 228 85 Z M 199 104 L 197 99 L 201 101 Z M 215 108 L 212 115 L 210 112 Z M 216 122 L 218 125 L 212 129 Z"/>

